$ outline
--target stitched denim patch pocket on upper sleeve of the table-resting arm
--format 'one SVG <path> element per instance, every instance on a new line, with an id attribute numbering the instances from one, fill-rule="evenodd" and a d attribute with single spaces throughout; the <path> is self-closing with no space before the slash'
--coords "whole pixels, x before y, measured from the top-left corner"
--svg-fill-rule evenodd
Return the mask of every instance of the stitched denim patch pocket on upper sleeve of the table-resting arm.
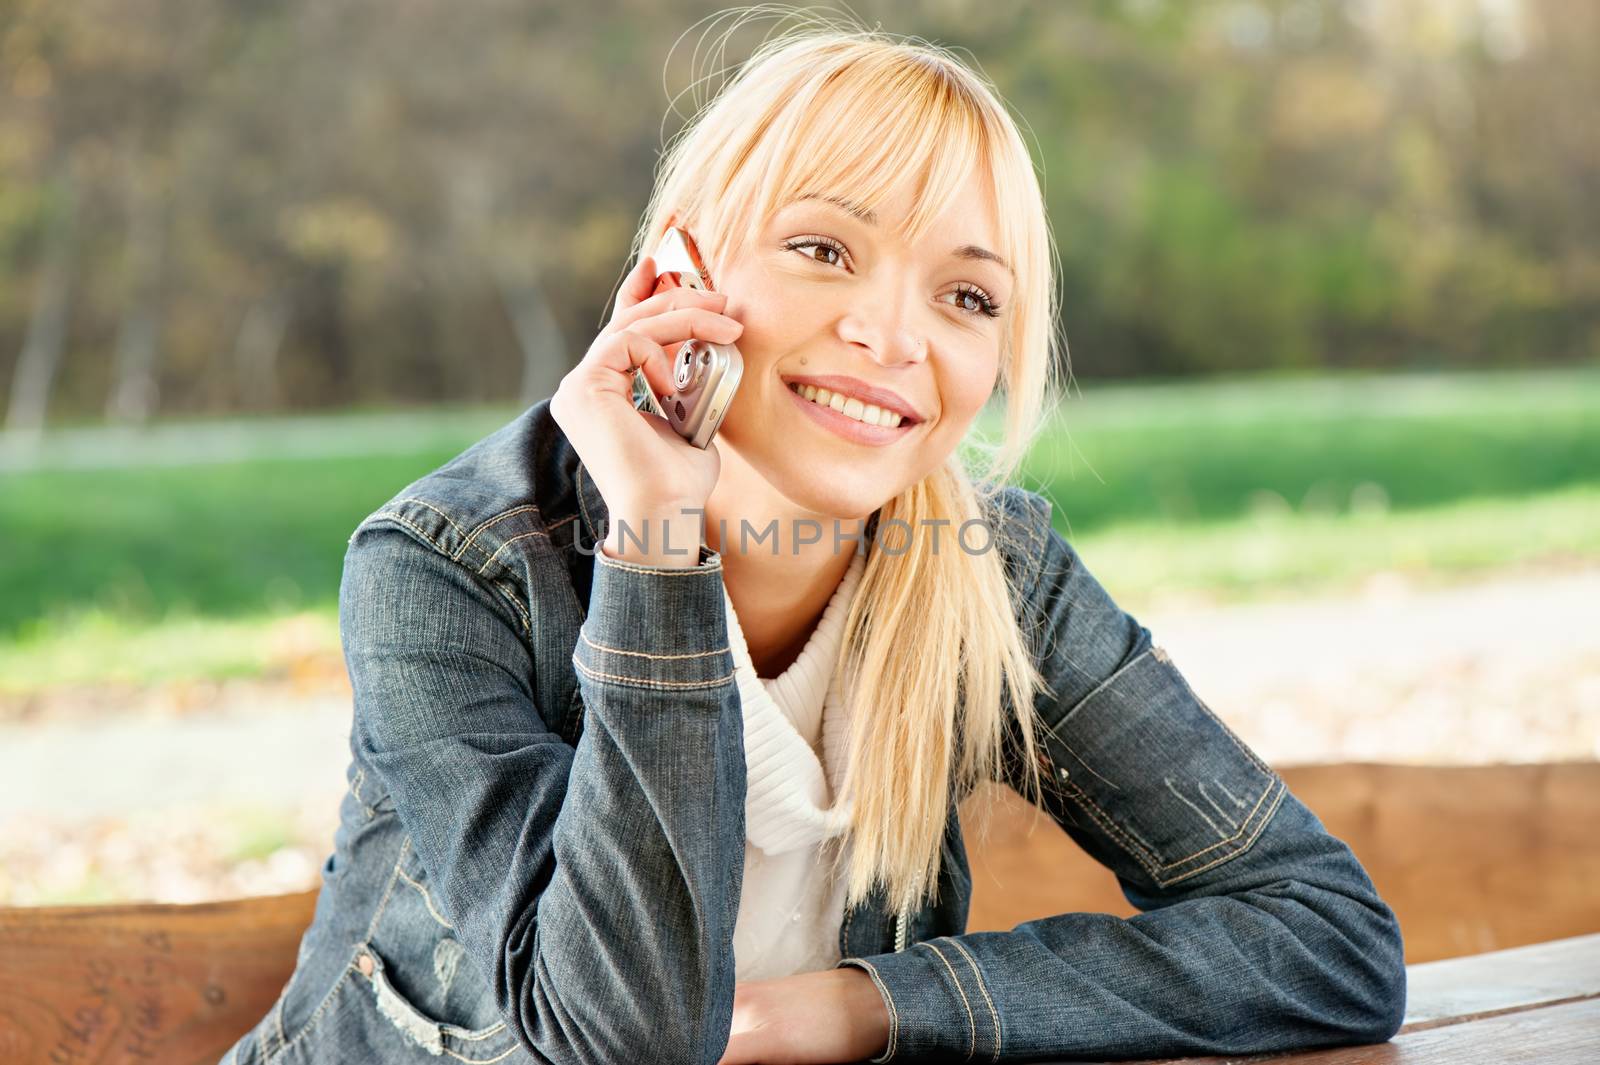
<path id="1" fill-rule="evenodd" d="M 1045 745 L 1077 827 L 1126 854 L 1158 888 L 1243 854 L 1285 785 L 1195 694 L 1158 646 L 1091 691 Z M 1080 833 L 1074 833 L 1080 835 Z M 1082 840 L 1080 840 L 1082 841 Z M 1114 867 L 1115 868 L 1115 867 Z"/>

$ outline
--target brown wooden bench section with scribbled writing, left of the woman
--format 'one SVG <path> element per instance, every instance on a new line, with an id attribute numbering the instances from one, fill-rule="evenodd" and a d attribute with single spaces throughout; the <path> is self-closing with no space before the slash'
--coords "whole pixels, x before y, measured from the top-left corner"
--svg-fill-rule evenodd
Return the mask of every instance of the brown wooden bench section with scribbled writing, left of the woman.
<path id="1" fill-rule="evenodd" d="M 214 1065 L 283 990 L 315 903 L 0 910 L 0 1062 Z"/>

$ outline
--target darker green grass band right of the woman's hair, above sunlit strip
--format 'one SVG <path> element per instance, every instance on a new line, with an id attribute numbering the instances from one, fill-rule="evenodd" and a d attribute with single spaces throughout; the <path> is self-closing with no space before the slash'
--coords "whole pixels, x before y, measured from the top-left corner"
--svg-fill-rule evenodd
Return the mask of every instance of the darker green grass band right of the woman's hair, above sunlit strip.
<path id="1" fill-rule="evenodd" d="M 1078 534 L 1600 485 L 1600 373 L 1091 385 L 1024 470 Z"/>

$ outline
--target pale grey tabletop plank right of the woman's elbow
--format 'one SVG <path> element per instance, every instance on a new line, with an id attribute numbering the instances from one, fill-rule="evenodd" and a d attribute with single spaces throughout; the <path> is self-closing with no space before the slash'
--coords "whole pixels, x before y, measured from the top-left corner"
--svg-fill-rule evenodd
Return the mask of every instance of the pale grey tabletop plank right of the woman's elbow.
<path id="1" fill-rule="evenodd" d="M 1578 998 L 1600 998 L 1600 935 L 1410 966 L 1402 1031 Z"/>

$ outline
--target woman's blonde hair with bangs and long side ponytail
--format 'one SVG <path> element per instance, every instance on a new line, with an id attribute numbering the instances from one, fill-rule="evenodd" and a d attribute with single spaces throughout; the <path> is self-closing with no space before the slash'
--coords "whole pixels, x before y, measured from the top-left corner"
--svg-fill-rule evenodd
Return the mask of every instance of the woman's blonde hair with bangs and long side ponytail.
<path id="1" fill-rule="evenodd" d="M 973 440 L 878 512 L 912 529 L 990 518 L 994 550 L 957 550 L 946 536 L 907 548 L 880 532 L 845 620 L 840 691 L 850 715 L 842 793 L 853 796 L 848 905 L 877 886 L 910 911 L 936 897 L 952 800 L 997 779 L 1008 728 L 1019 726 L 1029 798 L 1037 801 L 1034 699 L 1043 686 L 1013 606 L 995 496 L 1016 473 L 1056 393 L 1056 249 L 1022 136 L 992 85 L 944 46 L 816 14 L 768 37 L 662 157 L 635 241 L 637 259 L 677 217 L 715 273 L 728 248 L 754 243 L 773 211 L 808 192 L 867 209 L 901 176 L 918 178 L 907 221 L 917 240 L 978 168 L 998 211 L 998 253 L 1016 270 L 1000 358 L 1003 438 Z M 722 13 L 726 14 L 726 13 Z M 722 18 L 718 14 L 717 18 Z M 715 50 L 714 50 L 715 51 Z M 952 654 L 952 649 L 957 652 Z M 848 680 L 845 680 L 848 678 Z"/>

